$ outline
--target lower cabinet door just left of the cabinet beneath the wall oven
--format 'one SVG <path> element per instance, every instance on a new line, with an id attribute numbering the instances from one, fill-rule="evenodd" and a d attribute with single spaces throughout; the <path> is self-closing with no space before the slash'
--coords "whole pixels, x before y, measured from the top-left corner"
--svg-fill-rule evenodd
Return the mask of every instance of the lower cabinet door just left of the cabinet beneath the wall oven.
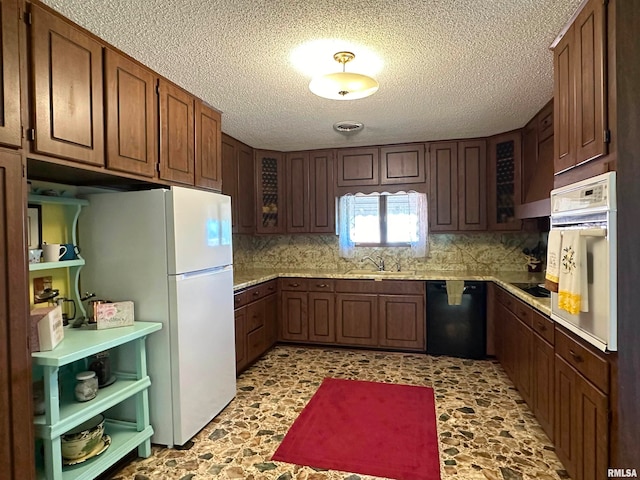
<path id="1" fill-rule="evenodd" d="M 553 347 L 538 335 L 533 335 L 531 357 L 532 410 L 542 429 L 553 441 Z"/>

